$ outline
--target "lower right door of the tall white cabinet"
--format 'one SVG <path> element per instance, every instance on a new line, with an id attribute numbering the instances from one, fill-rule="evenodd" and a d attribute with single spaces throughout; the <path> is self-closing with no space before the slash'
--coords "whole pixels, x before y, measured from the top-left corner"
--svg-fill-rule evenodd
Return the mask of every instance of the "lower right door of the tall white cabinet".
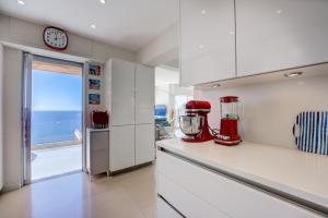
<path id="1" fill-rule="evenodd" d="M 141 165 L 154 160 L 154 124 L 136 125 L 136 165 Z"/>

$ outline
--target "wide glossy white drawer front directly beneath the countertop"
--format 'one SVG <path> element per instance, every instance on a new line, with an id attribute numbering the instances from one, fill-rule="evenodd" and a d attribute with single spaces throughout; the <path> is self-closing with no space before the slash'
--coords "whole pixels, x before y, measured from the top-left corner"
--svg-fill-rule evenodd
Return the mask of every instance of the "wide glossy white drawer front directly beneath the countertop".
<path id="1" fill-rule="evenodd" d="M 171 150 L 157 150 L 156 167 L 159 195 L 188 218 L 323 218 L 298 204 Z"/>

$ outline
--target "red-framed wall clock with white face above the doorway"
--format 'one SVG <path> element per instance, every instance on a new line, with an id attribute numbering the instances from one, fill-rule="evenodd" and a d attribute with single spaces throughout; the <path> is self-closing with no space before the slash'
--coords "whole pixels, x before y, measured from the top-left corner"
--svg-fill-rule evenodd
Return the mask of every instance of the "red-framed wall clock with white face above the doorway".
<path id="1" fill-rule="evenodd" d="M 65 50 L 68 46 L 68 35 L 65 31 L 48 26 L 44 31 L 44 41 L 46 46 L 55 50 Z"/>

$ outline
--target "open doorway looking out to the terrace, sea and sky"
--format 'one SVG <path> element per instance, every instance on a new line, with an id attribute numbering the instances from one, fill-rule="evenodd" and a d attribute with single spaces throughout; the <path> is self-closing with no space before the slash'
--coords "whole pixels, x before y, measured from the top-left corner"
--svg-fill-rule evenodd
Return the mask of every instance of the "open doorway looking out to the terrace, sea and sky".
<path id="1" fill-rule="evenodd" d="M 25 183 L 81 171 L 83 64 L 26 56 Z"/>

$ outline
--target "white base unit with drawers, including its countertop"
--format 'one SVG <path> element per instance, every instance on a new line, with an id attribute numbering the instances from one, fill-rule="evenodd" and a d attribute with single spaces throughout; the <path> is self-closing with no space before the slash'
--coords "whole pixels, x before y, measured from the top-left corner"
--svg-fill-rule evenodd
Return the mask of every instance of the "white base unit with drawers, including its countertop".
<path id="1" fill-rule="evenodd" d="M 243 142 L 157 142 L 159 205 L 181 217 L 325 217 L 328 157 Z M 163 208 L 159 208 L 159 217 Z"/>

